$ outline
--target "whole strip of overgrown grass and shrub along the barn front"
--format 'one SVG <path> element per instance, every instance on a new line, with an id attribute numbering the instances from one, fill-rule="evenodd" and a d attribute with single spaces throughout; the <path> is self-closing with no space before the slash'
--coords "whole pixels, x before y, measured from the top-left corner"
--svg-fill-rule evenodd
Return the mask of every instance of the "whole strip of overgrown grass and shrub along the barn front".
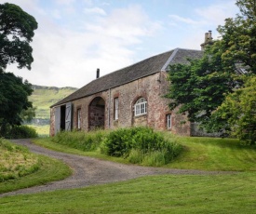
<path id="1" fill-rule="evenodd" d="M 152 167 L 164 166 L 182 152 L 182 146 L 175 140 L 166 140 L 162 133 L 149 127 L 60 132 L 51 140 L 84 152 L 101 152 Z"/>

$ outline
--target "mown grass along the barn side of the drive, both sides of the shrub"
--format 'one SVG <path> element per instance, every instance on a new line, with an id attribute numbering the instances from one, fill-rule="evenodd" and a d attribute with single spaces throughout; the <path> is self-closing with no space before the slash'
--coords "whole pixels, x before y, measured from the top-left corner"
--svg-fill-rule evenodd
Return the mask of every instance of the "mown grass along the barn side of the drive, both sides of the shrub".
<path id="1" fill-rule="evenodd" d="M 167 138 L 173 138 L 166 134 Z M 185 138 L 176 137 L 184 150 L 176 159 L 165 167 L 224 170 L 224 171 L 254 171 L 256 170 L 256 148 L 241 145 L 238 140 L 219 138 Z M 54 143 L 50 138 L 36 139 L 36 144 L 59 152 L 94 156 L 105 160 L 128 164 L 128 160 L 101 154 L 100 151 L 83 152 Z"/>

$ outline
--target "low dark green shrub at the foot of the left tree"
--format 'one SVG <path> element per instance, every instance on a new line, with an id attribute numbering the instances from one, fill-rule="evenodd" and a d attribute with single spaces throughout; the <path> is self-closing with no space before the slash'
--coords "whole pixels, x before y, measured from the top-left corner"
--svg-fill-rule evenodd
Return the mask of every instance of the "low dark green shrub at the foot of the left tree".
<path id="1" fill-rule="evenodd" d="M 8 127 L 7 133 L 3 137 L 6 139 L 31 139 L 37 138 L 38 134 L 33 127 L 14 126 Z"/>

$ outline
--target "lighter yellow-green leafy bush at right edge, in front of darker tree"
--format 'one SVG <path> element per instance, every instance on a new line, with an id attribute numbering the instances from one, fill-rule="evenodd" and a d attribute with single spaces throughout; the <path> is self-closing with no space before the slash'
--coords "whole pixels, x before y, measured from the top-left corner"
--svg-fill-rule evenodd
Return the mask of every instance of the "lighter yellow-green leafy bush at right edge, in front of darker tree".
<path id="1" fill-rule="evenodd" d="M 256 75 L 243 76 L 244 87 L 228 94 L 212 117 L 231 125 L 230 134 L 249 144 L 256 142 Z"/>

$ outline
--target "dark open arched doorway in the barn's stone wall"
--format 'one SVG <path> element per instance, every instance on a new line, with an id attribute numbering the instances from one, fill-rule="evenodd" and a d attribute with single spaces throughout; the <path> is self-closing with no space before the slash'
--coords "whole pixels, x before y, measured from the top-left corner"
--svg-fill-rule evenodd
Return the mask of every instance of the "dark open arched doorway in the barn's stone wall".
<path id="1" fill-rule="evenodd" d="M 88 106 L 88 129 L 104 128 L 105 100 L 101 97 L 93 99 Z"/>

